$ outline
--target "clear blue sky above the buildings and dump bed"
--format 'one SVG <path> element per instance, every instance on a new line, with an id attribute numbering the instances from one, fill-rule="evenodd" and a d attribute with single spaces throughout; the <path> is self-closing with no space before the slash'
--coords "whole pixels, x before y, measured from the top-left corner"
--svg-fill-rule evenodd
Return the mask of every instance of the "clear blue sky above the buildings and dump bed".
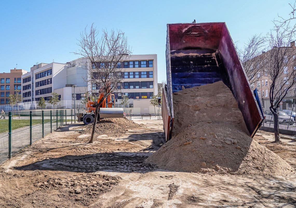
<path id="1" fill-rule="evenodd" d="M 160 82 L 167 23 L 226 22 L 242 46 L 253 34 L 267 33 L 278 14 L 288 16 L 290 1 L 2 1 L 0 72 L 78 58 L 71 52 L 80 32 L 94 23 L 125 32 L 133 54 L 157 54 Z"/>

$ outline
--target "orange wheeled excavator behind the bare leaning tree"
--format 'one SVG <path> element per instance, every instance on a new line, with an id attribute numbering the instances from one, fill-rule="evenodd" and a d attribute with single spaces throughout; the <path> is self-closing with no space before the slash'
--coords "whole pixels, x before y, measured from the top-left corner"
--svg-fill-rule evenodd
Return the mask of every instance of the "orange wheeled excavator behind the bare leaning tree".
<path id="1" fill-rule="evenodd" d="M 90 124 L 94 122 L 94 112 L 96 111 L 96 105 L 104 97 L 101 93 L 96 102 L 89 100 L 85 104 L 86 114 L 82 114 L 78 121 L 83 121 L 84 124 Z M 123 118 L 123 108 L 115 108 L 115 96 L 114 94 L 108 95 L 99 106 L 99 114 L 97 121 L 102 118 Z"/>

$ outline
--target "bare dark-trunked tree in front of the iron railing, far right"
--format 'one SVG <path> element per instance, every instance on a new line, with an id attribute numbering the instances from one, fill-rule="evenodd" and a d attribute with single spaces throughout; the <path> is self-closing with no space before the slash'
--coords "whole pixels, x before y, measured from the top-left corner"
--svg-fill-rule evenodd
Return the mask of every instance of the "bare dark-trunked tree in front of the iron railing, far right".
<path id="1" fill-rule="evenodd" d="M 284 28 L 276 27 L 267 35 L 269 51 L 262 54 L 268 78 L 270 111 L 274 116 L 275 142 L 279 142 L 278 109 L 281 101 L 296 85 L 295 48 L 289 47 L 291 37 Z"/>

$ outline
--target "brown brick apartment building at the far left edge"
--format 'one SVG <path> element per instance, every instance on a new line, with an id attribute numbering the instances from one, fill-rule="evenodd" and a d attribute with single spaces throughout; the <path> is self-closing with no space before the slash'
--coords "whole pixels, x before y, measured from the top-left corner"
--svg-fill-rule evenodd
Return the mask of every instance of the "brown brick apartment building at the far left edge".
<path id="1" fill-rule="evenodd" d="M 0 105 L 9 103 L 9 94 L 14 94 L 15 90 L 21 90 L 21 76 L 27 71 L 23 69 L 11 69 L 10 73 L 0 73 Z"/>

